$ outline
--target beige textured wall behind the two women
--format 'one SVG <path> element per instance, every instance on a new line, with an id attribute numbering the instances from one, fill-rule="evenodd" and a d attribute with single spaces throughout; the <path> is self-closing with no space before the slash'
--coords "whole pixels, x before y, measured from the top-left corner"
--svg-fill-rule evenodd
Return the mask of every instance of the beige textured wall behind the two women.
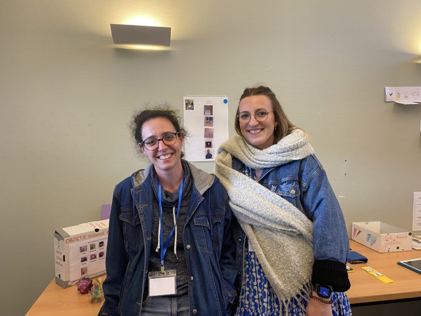
<path id="1" fill-rule="evenodd" d="M 0 2 L 8 315 L 24 314 L 52 279 L 54 229 L 99 219 L 114 185 L 145 166 L 127 128 L 145 102 L 181 109 L 187 94 L 227 95 L 232 122 L 243 89 L 263 82 L 312 136 L 348 229 L 373 220 L 411 228 L 421 106 L 385 103 L 384 87 L 421 85 L 421 2 L 258 3 Z M 142 13 L 172 27 L 171 50 L 112 46 L 109 24 Z"/>

